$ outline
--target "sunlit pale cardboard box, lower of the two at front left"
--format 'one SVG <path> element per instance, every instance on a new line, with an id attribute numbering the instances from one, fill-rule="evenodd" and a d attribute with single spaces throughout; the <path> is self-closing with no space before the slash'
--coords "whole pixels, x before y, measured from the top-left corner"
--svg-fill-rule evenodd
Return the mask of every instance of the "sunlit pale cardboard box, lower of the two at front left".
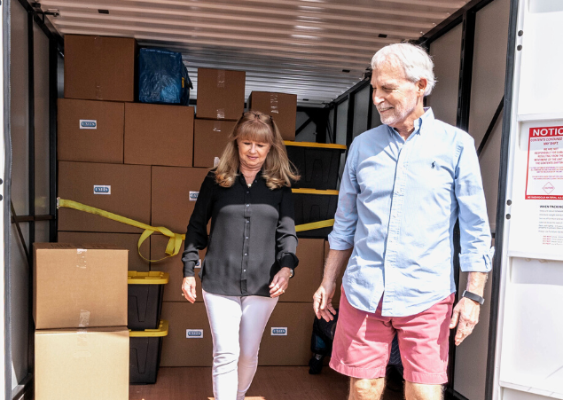
<path id="1" fill-rule="evenodd" d="M 127 400 L 126 327 L 35 331 L 35 400 Z"/>

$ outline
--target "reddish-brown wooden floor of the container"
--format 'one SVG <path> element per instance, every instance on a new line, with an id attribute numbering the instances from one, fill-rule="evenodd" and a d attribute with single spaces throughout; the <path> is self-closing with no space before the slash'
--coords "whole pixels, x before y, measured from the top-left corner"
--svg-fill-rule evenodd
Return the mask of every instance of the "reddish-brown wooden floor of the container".
<path id="1" fill-rule="evenodd" d="M 346 400 L 348 378 L 325 366 L 309 375 L 307 366 L 260 366 L 246 400 Z M 387 390 L 385 400 L 402 400 Z M 129 386 L 129 400 L 213 400 L 211 368 L 160 368 L 154 385 Z"/>

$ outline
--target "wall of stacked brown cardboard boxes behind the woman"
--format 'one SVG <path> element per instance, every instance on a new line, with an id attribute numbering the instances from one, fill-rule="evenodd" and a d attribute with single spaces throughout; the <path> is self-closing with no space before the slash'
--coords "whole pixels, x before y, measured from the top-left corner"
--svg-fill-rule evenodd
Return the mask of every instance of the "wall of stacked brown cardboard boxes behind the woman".
<path id="1" fill-rule="evenodd" d="M 184 233 L 199 188 L 244 111 L 245 73 L 200 68 L 198 106 L 135 103 L 137 43 L 129 38 L 66 35 L 65 98 L 59 99 L 59 197 Z M 92 49 L 95 51 L 92 53 Z M 109 72 L 111 71 L 111 73 Z M 88 76 L 88 79 L 79 77 Z M 252 108 L 273 115 L 285 139 L 295 132 L 296 97 L 254 92 Z M 262 105 L 262 106 L 261 106 Z M 212 363 L 212 339 L 198 279 L 195 304 L 181 291 L 181 255 L 168 238 L 103 216 L 59 209 L 59 241 L 113 243 L 129 249 L 129 271 L 168 272 L 161 319 L 168 320 L 161 366 Z M 323 239 L 301 239 L 300 266 L 262 341 L 261 365 L 307 365 L 312 295 L 320 283 Z M 200 257 L 205 251 L 200 252 Z M 198 271 L 198 270 L 196 270 Z M 278 329 L 280 328 L 280 329 Z"/>

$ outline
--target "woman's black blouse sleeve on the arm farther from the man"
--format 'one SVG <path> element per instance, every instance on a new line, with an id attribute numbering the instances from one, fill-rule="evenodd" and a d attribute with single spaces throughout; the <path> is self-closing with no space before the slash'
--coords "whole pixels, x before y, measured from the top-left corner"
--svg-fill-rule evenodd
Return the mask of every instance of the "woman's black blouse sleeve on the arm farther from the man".
<path id="1" fill-rule="evenodd" d="M 182 253 L 184 278 L 195 275 L 193 270 L 199 261 L 199 250 L 207 247 L 207 223 L 211 218 L 214 184 L 215 176 L 210 172 L 201 184 L 198 200 L 190 217 Z"/>

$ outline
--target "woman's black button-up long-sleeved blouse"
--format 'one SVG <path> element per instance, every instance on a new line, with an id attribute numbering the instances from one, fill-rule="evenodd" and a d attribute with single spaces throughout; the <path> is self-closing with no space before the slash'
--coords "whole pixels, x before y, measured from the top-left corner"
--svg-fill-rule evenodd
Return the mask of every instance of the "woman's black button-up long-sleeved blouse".
<path id="1" fill-rule="evenodd" d="M 214 171 L 209 172 L 185 235 L 184 277 L 194 276 L 198 250 L 206 247 L 199 272 L 206 292 L 270 296 L 274 275 L 299 263 L 291 189 L 270 190 L 261 172 L 251 187 L 242 174 L 231 187 L 222 187 L 215 183 Z"/>

